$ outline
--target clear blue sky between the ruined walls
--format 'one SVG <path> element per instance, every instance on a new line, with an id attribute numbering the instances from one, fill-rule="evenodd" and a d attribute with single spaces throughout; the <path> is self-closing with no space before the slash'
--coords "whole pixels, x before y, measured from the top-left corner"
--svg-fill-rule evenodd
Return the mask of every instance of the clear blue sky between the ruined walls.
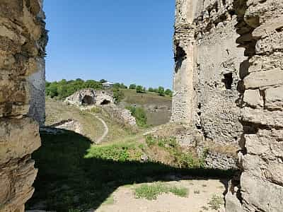
<path id="1" fill-rule="evenodd" d="M 171 88 L 175 0 L 45 0 L 47 81 Z"/>

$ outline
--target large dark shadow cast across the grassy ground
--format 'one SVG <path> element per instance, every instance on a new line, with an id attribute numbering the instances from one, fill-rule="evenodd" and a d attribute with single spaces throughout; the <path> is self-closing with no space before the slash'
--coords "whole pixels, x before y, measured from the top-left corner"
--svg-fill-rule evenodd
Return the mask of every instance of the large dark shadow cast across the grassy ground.
<path id="1" fill-rule="evenodd" d="M 72 131 L 57 135 L 42 133 L 41 138 L 42 146 L 33 154 L 39 172 L 28 209 L 86 211 L 98 208 L 115 189 L 125 184 L 173 180 L 168 176 L 227 179 L 233 175 L 232 171 L 84 158 L 91 141 Z"/>

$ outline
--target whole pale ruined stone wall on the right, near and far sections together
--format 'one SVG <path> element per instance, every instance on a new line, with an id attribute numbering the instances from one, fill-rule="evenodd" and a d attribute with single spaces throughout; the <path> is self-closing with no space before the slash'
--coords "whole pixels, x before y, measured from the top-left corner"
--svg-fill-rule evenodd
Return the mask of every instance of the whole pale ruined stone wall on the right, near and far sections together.
<path id="1" fill-rule="evenodd" d="M 240 144 L 226 211 L 282 211 L 283 1 L 177 0 L 175 19 L 172 120 Z"/>

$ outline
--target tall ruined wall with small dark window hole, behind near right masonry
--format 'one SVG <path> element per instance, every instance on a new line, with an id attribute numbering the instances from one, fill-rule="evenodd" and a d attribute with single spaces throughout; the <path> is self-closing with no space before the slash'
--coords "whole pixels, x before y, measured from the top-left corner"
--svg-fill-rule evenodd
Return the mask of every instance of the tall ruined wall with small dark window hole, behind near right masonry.
<path id="1" fill-rule="evenodd" d="M 242 133 L 236 101 L 245 57 L 236 23 L 231 0 L 177 1 L 172 119 L 217 143 L 237 143 Z"/>

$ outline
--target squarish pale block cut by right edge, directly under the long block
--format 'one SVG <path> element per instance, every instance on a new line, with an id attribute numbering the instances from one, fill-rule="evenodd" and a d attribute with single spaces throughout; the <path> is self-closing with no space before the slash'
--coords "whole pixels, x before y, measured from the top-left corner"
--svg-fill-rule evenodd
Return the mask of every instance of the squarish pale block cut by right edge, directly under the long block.
<path id="1" fill-rule="evenodd" d="M 265 90 L 265 107 L 271 110 L 283 110 L 283 87 Z"/>

